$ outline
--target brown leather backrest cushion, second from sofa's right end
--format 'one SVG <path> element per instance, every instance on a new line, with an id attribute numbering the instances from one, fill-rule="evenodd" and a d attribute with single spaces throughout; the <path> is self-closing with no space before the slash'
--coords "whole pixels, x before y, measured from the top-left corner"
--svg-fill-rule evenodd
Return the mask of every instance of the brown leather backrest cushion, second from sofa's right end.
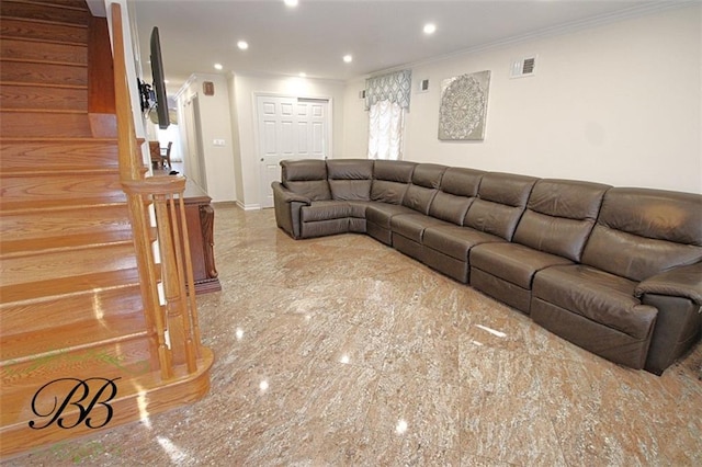
<path id="1" fill-rule="evenodd" d="M 573 180 L 537 181 L 512 241 L 580 261 L 609 187 Z"/>

